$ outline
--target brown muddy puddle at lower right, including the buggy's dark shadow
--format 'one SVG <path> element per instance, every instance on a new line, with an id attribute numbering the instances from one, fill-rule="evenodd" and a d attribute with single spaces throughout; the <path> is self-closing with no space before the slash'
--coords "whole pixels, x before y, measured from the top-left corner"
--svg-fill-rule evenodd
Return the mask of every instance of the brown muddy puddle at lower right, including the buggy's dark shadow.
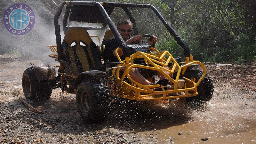
<path id="1" fill-rule="evenodd" d="M 166 103 L 153 108 L 151 103 L 151 108 L 147 104 L 139 112 L 125 114 L 120 123 L 152 143 L 256 143 L 256 103 L 252 94 L 233 89 L 230 84 L 215 85 L 213 99 L 203 109 Z M 142 111 L 148 115 L 140 116 Z"/>

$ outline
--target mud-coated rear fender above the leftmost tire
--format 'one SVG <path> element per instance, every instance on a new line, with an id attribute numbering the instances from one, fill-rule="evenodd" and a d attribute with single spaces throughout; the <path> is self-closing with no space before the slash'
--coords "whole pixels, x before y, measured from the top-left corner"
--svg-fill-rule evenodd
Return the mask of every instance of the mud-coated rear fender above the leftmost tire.
<path id="1" fill-rule="evenodd" d="M 34 69 L 37 80 L 54 80 L 56 71 L 55 68 L 44 62 L 31 63 L 32 68 Z"/>

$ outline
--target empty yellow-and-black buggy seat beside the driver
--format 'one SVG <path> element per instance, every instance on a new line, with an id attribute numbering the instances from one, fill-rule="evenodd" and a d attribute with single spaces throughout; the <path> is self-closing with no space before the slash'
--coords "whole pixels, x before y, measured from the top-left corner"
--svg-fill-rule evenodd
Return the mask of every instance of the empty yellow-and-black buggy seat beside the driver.
<path id="1" fill-rule="evenodd" d="M 68 28 L 62 42 L 61 52 L 69 67 L 67 74 L 78 74 L 89 70 L 101 70 L 101 53 L 85 28 Z"/>

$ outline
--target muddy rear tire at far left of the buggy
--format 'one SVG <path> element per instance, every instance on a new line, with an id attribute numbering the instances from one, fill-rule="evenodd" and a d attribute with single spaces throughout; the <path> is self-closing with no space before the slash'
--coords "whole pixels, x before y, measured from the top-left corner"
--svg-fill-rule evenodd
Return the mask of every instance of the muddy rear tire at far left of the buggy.
<path id="1" fill-rule="evenodd" d="M 22 75 L 22 88 L 25 97 L 37 103 L 49 100 L 52 94 L 52 83 L 51 80 L 37 80 L 33 68 L 27 68 Z"/>

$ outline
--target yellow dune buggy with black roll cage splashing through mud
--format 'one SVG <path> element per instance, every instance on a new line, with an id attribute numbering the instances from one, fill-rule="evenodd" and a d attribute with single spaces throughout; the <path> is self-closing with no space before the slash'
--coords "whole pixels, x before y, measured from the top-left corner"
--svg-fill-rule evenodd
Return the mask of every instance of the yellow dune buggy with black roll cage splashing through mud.
<path id="1" fill-rule="evenodd" d="M 59 17 L 64 5 L 66 11 L 62 25 L 65 36 L 61 41 Z M 153 10 L 184 49 L 185 61 L 172 57 L 170 52 L 159 52 L 148 44 L 126 45 L 109 17 L 115 7 L 122 8 L 132 21 L 134 34 L 138 34 L 138 30 L 128 8 Z M 71 27 L 68 26 L 70 21 L 102 25 Z M 105 109 L 115 98 L 138 101 L 180 98 L 188 104 L 204 104 L 212 98 L 213 84 L 204 65 L 193 60 L 189 48 L 180 36 L 150 4 L 63 2 L 58 6 L 54 26 L 57 45 L 49 47 L 56 54 L 50 54 L 49 57 L 58 61 L 59 65 L 31 63 L 32 67 L 26 69 L 22 77 L 23 92 L 27 99 L 45 102 L 50 98 L 52 89 L 61 88 L 62 91 L 76 94 L 77 110 L 84 120 L 97 123 L 104 120 Z M 93 35 L 93 31 L 100 31 L 102 36 Z M 116 50 L 119 62 L 104 62 L 104 46 L 112 36 L 118 41 L 118 49 L 123 51 L 125 60 L 121 60 Z M 113 64 L 114 67 L 109 67 Z M 200 66 L 202 71 L 192 69 L 194 66 Z M 124 67 L 125 70 L 121 73 L 121 68 Z M 55 68 L 58 68 L 57 76 Z M 158 71 L 171 83 L 142 85 L 130 76 L 132 68 Z M 152 77 L 147 79 L 154 83 Z"/>

